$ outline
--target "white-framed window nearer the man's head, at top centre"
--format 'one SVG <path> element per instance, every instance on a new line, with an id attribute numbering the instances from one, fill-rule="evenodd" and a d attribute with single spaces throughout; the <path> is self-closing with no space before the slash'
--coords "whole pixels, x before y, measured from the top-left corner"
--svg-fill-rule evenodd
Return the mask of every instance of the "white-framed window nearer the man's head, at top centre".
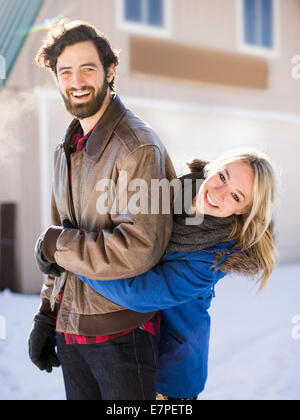
<path id="1" fill-rule="evenodd" d="M 168 35 L 170 0 L 119 0 L 121 29 Z"/>

